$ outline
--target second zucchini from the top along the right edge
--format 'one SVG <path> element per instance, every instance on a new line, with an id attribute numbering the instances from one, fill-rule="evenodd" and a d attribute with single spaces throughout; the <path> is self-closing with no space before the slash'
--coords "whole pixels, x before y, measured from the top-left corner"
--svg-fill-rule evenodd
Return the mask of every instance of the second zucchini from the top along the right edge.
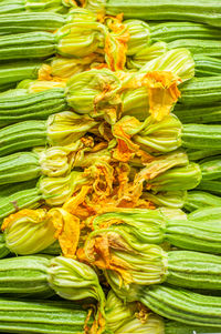
<path id="1" fill-rule="evenodd" d="M 150 26 L 151 41 L 171 42 L 180 39 L 219 40 L 220 30 L 194 22 L 165 21 Z"/>

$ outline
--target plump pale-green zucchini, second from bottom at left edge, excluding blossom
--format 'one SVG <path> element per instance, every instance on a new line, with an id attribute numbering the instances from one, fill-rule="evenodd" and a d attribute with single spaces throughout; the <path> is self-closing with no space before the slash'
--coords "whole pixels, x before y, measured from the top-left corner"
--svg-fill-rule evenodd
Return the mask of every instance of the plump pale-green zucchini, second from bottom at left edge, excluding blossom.
<path id="1" fill-rule="evenodd" d="M 0 260 L 0 294 L 14 297 L 49 297 L 50 260 L 45 256 L 15 256 Z"/>

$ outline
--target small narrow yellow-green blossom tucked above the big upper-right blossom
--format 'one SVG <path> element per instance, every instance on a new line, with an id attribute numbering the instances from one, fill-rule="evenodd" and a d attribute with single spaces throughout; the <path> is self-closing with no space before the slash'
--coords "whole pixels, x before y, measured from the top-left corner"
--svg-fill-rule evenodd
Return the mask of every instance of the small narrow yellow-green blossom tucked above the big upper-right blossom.
<path id="1" fill-rule="evenodd" d="M 127 68 L 139 70 L 146 65 L 146 63 L 165 54 L 167 51 L 168 48 L 167 43 L 165 42 L 157 42 L 151 45 L 146 45 L 127 59 Z"/>

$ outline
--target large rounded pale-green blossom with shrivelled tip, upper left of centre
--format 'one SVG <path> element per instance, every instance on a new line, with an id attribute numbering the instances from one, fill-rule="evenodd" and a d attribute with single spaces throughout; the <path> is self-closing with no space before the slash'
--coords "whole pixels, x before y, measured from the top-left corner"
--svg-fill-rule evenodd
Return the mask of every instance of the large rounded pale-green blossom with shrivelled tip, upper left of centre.
<path id="1" fill-rule="evenodd" d="M 109 70 L 91 70 L 75 74 L 67 81 L 66 100 L 77 113 L 93 118 L 105 115 L 115 122 L 120 103 L 120 80 Z"/>

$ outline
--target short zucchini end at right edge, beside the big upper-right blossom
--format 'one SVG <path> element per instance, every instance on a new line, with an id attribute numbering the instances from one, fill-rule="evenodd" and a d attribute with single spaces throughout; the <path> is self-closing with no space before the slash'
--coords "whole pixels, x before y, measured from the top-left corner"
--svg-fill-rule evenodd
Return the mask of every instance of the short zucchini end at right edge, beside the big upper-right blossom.
<path id="1" fill-rule="evenodd" d="M 194 55 L 194 75 L 212 77 L 221 75 L 221 59 L 197 54 Z"/>

